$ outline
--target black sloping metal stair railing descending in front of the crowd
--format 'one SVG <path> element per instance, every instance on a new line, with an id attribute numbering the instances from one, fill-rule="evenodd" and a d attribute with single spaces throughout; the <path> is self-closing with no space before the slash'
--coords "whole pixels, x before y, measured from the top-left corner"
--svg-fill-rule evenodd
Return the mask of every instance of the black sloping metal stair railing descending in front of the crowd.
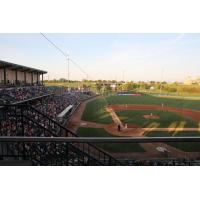
<path id="1" fill-rule="evenodd" d="M 4 120 L 9 118 L 13 119 L 15 129 L 13 133 L 9 133 L 10 130 L 1 130 L 1 136 L 7 136 L 8 134 L 14 139 L 13 136 L 23 137 L 78 137 L 75 133 L 68 130 L 55 120 L 51 119 L 44 113 L 38 111 L 36 108 L 30 105 L 5 105 L 3 108 Z M 29 135 L 29 128 L 37 127 L 37 133 Z M 76 150 L 79 154 L 90 158 L 98 165 L 121 165 L 122 163 L 111 156 L 106 151 L 97 147 L 91 143 L 70 143 L 68 146 Z M 25 149 L 23 147 L 23 149 Z"/>

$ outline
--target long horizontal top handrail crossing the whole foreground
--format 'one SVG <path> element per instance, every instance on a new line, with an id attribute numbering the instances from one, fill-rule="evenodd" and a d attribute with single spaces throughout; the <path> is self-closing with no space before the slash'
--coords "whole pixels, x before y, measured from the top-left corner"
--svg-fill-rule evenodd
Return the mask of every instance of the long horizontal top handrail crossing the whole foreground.
<path id="1" fill-rule="evenodd" d="M 160 143 L 200 142 L 200 137 L 16 137 L 0 136 L 0 142 L 65 142 L 65 143 Z"/>

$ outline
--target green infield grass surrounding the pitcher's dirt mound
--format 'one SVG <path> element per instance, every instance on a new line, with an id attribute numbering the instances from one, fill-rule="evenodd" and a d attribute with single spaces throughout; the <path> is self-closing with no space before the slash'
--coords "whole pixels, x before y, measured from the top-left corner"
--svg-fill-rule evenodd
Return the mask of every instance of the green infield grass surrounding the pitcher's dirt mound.
<path id="1" fill-rule="evenodd" d="M 158 115 L 160 119 L 145 119 L 143 115 L 148 114 Z M 155 127 L 155 128 L 193 128 L 198 127 L 198 123 L 189 117 L 183 117 L 179 114 L 169 111 L 159 110 L 123 110 L 117 111 L 123 123 L 137 124 L 140 127 Z"/>

